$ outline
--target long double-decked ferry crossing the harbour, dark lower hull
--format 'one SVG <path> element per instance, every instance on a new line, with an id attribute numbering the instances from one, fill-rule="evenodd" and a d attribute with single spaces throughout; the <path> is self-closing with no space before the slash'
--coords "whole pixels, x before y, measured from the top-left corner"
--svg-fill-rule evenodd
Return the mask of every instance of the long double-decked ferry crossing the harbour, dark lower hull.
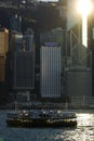
<path id="1" fill-rule="evenodd" d="M 39 111 L 8 113 L 6 125 L 11 127 L 71 127 L 77 126 L 73 112 Z"/>

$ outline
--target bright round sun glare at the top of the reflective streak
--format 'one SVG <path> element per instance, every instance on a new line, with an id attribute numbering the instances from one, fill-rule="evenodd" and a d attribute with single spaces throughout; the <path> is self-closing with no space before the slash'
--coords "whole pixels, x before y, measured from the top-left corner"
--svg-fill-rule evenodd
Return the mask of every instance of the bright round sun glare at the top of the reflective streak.
<path id="1" fill-rule="evenodd" d="M 92 11 L 92 2 L 91 0 L 78 0 L 77 3 L 78 12 L 82 15 L 88 15 Z"/>

